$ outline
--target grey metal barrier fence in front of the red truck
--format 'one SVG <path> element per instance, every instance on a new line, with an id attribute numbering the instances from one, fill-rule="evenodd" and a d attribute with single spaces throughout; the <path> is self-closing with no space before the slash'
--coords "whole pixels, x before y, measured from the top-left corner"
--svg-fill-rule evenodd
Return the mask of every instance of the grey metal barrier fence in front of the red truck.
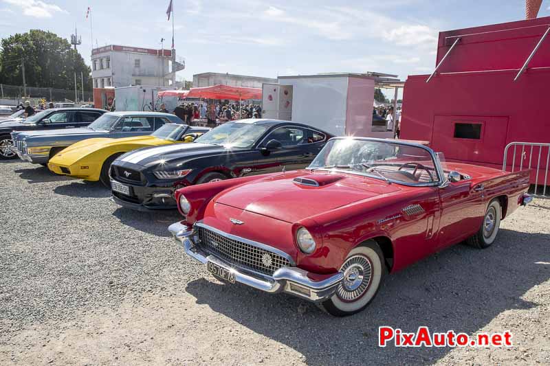
<path id="1" fill-rule="evenodd" d="M 508 150 L 510 148 L 513 148 L 513 151 L 511 152 L 511 163 L 508 163 L 507 157 L 509 155 Z M 521 152 L 518 151 L 519 148 L 521 148 Z M 546 149 L 546 154 L 544 154 L 544 149 Z M 518 165 L 516 165 L 516 155 L 519 155 Z M 546 159 L 544 159 L 544 155 L 546 155 Z M 546 160 L 546 163 L 544 163 L 544 160 Z M 536 166 L 534 165 L 535 161 Z M 511 142 L 504 149 L 503 170 L 507 170 L 508 167 L 511 168 L 511 172 L 525 168 L 533 169 L 531 172 L 531 183 L 534 185 L 533 196 L 535 197 L 550 198 L 550 189 L 547 190 L 549 163 L 550 144 L 541 144 L 536 142 Z M 534 181 L 532 179 L 533 175 Z M 542 187 L 540 187 L 541 185 Z M 540 194 L 541 191 L 542 194 Z"/>

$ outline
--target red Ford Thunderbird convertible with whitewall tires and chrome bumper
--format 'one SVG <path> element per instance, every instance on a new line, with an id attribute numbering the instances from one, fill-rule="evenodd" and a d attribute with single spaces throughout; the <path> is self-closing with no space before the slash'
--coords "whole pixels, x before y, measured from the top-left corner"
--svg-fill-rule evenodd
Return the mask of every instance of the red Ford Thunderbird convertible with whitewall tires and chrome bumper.
<path id="1" fill-rule="evenodd" d="M 169 230 L 225 282 L 289 293 L 336 316 L 386 273 L 466 240 L 487 248 L 527 195 L 529 171 L 445 163 L 421 144 L 337 137 L 307 170 L 177 190 Z"/>

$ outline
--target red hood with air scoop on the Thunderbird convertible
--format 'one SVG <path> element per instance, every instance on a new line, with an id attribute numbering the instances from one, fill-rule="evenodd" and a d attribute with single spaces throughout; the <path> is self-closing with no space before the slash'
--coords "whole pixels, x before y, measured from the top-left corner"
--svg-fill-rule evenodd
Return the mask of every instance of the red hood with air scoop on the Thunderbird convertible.
<path id="1" fill-rule="evenodd" d="M 214 200 L 292 223 L 398 190 L 398 185 L 355 174 L 298 170 L 230 188 Z"/>

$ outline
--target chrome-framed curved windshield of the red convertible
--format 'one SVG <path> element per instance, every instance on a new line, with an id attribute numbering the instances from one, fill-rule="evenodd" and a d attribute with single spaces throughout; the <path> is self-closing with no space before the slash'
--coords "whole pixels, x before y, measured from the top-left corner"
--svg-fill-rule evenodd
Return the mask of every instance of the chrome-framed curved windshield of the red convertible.
<path id="1" fill-rule="evenodd" d="M 439 181 L 430 152 L 391 141 L 333 139 L 308 169 L 342 170 L 406 185 Z"/>

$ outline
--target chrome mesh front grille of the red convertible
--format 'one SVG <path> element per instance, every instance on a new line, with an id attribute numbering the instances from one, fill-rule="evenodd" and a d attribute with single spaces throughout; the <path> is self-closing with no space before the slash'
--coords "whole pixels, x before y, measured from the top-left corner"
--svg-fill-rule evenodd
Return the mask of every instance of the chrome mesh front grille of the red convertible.
<path id="1" fill-rule="evenodd" d="M 216 231 L 199 226 L 197 233 L 200 239 L 197 246 L 231 264 L 250 268 L 265 275 L 272 275 L 279 268 L 292 266 L 283 255 L 228 238 Z"/>

